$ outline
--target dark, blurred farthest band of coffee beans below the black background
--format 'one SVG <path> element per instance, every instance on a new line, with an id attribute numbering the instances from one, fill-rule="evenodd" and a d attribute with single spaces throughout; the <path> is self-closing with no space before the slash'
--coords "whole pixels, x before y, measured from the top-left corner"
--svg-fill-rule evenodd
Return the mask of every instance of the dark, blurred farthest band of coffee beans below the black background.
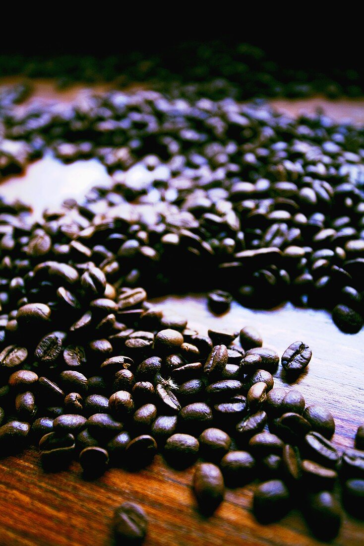
<path id="1" fill-rule="evenodd" d="M 246 100 L 309 97 L 317 93 L 331 98 L 364 94 L 363 70 L 360 63 L 353 62 L 352 48 L 345 57 L 345 68 L 340 68 L 338 57 L 332 67 L 327 55 L 321 66 L 313 66 L 318 51 L 309 55 L 307 44 L 303 60 L 295 55 L 294 62 L 288 62 L 287 48 L 284 52 L 275 51 L 272 40 L 266 51 L 232 40 L 231 35 L 225 39 L 174 42 L 172 39 L 166 48 L 164 39 L 163 46 L 158 47 L 153 36 L 147 40 L 147 47 L 139 44 L 136 50 L 126 49 L 112 55 L 102 55 L 99 50 L 96 56 L 75 52 L 3 54 L 0 77 L 21 74 L 29 78 L 55 78 L 60 87 L 80 81 L 114 82 L 120 87 L 147 81 L 149 86 L 178 97 L 204 96 L 213 100 L 227 96 Z M 276 45 L 276 40 L 273 42 Z M 341 53 L 342 48 L 343 44 Z"/>

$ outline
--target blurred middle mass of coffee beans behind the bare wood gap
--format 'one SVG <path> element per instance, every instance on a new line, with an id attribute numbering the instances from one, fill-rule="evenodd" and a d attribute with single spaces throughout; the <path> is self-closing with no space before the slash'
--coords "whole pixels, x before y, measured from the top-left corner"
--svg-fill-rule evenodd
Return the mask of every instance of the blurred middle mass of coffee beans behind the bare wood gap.
<path id="1" fill-rule="evenodd" d="M 33 226 L 44 256 L 86 261 L 98 241 L 110 279 L 151 296 L 218 289 L 209 297 L 214 312 L 231 296 L 251 307 L 291 300 L 326 308 L 345 332 L 362 328 L 362 128 L 152 91 L 19 112 L 18 94 L 3 99 L 2 174 L 52 149 L 65 162 L 96 157 L 112 175 L 109 188 L 68 200 Z M 5 264 L 20 260 L 29 271 L 38 250 L 23 250 L 28 233 L 8 221 L 10 205 L 1 210 Z"/>

